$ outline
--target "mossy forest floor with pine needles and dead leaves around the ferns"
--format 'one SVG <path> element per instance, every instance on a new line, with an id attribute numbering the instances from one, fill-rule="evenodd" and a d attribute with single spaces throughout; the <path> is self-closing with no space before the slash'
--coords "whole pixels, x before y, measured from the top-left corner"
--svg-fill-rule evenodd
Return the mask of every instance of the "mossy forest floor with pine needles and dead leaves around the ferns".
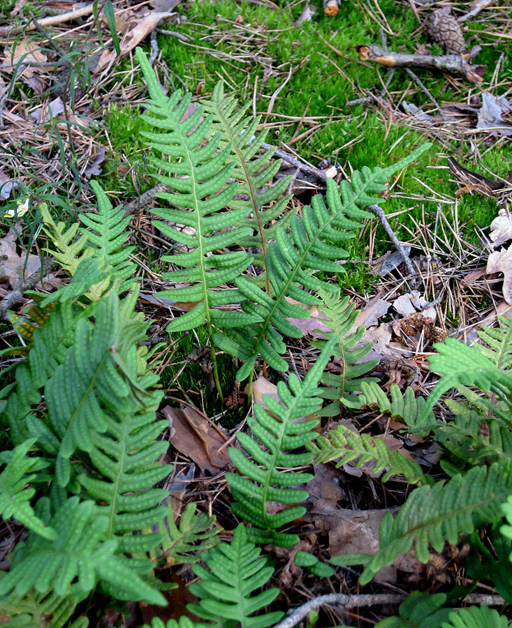
<path id="1" fill-rule="evenodd" d="M 432 343 L 446 336 L 469 343 L 476 339 L 476 329 L 492 327 L 497 315 L 510 316 L 512 307 L 512 264 L 506 259 L 488 263 L 495 241 L 509 239 L 502 234 L 500 240 L 499 230 L 505 227 L 491 223 L 500 209 L 509 220 L 511 4 L 490 4 L 460 23 L 467 50 L 481 47 L 466 61 L 474 68 L 471 77 L 400 67 L 390 74 L 389 68 L 361 59 L 360 47 L 372 45 L 416 57 L 445 54 L 424 27 L 432 4 L 344 0 L 339 13 L 327 17 L 319 2 L 310 4 L 308 15 L 305 0 L 120 0 L 113 3 L 109 20 L 96 10 L 80 15 L 82 5 L 69 0 L 0 0 L 0 251 L 6 251 L 4 259 L 10 264 L 0 272 L 0 299 L 22 287 L 23 281 L 17 283 L 20 269 L 26 279 L 45 255 L 48 243 L 37 202 L 50 203 L 55 218 L 71 225 L 77 212 L 93 202 L 89 182 L 97 179 L 112 202 L 124 205 L 133 216 L 130 240 L 136 244 L 133 258 L 140 266 L 140 309 L 154 320 L 153 338 L 163 341 L 154 363 L 167 402 L 177 405 L 181 400 L 197 408 L 201 416 L 221 425 L 224 440 L 231 438 L 233 428 L 240 428 L 247 407 L 226 410 L 205 385 L 204 356 L 193 354 L 205 334 L 201 329 L 197 334 L 173 334 L 169 341 L 165 328 L 176 311 L 154 297 L 166 285 L 161 274 L 167 266 L 161 257 L 168 254 L 168 243 L 156 234 L 146 211 L 154 179 L 140 135 L 148 127 L 139 114 L 147 93 L 133 54 L 135 45 L 142 45 L 148 55 L 153 53 L 153 67 L 168 91 L 189 91 L 198 102 L 221 81 L 226 94 L 250 103 L 249 112 L 261 117 L 260 128 L 269 130 L 267 142 L 309 165 L 306 172 L 285 162 L 295 177 L 292 202 L 299 209 L 325 190 L 330 168 L 335 168 L 336 177 L 350 176 L 365 165 L 394 163 L 423 142 L 432 142 L 420 159 L 390 181 L 383 206 L 414 273 L 374 218 L 351 241 L 354 261 L 346 264 L 342 283 L 344 294 L 362 311 L 359 322 L 367 327 L 363 341 L 376 341 L 373 357 L 381 361 L 384 389 L 396 383 L 428 394 L 434 385 L 426 359 Z M 456 18 L 470 10 L 468 3 L 439 4 L 452 6 Z M 52 20 L 65 11 L 75 11 L 73 19 Z M 31 22 L 31 28 L 10 31 L 17 22 Z M 448 158 L 495 179 L 502 189 L 485 187 L 485 179 L 461 181 L 448 167 Z M 138 199 L 148 190 L 149 200 L 141 203 Z M 494 241 L 491 232 L 497 234 Z M 58 273 L 51 274 L 43 290 L 51 291 L 59 281 Z M 19 343 L 8 322 L 1 323 L 0 338 L 6 347 Z M 308 361 L 301 343 L 290 345 L 290 360 L 303 375 Z M 230 391 L 236 365 L 231 357 L 220 359 L 221 384 Z M 275 375 L 268 377 L 272 382 L 263 382 L 263 392 L 277 381 Z M 439 471 L 432 442 L 404 443 L 400 426 L 395 431 L 378 412 L 368 410 L 357 419 L 349 413 L 344 420 L 357 426 L 374 424 L 376 434 L 394 439 L 395 447 L 414 450 L 416 459 L 433 473 Z M 194 481 L 194 453 L 187 455 L 179 447 L 170 451 L 169 461 L 188 483 L 184 500 L 198 502 L 219 515 L 226 529 L 233 528 L 234 517 L 226 514 L 230 495 L 224 470 Z M 201 458 L 204 452 L 197 455 Z M 345 469 L 342 479 L 319 479 L 319 491 L 322 481 L 338 487 L 337 502 L 344 508 L 365 510 L 370 518 L 377 509 L 404 500 L 402 486 L 388 489 L 379 477 L 353 468 Z M 313 537 L 314 526 L 308 525 Z M 321 537 L 326 555 L 332 537 L 340 533 L 339 528 L 333 530 Z M 289 565 L 286 569 L 278 582 L 283 604 L 296 605 L 334 588 L 358 592 L 358 571 L 353 568 L 345 568 L 330 585 L 313 576 L 293 585 L 296 574 L 290 574 Z M 414 581 L 436 590 L 447 579 L 455 584 L 465 577 L 456 557 L 428 573 L 419 572 L 416 564 L 403 571 L 407 577 L 395 573 L 394 581 L 386 581 L 386 590 L 407 590 Z M 184 580 L 189 577 L 188 572 L 182 574 Z M 380 590 L 379 585 L 372 590 Z M 145 610 L 144 619 L 153 611 Z M 327 615 L 323 625 L 367 626 L 381 618 L 382 609 L 340 615 L 330 608 Z"/>

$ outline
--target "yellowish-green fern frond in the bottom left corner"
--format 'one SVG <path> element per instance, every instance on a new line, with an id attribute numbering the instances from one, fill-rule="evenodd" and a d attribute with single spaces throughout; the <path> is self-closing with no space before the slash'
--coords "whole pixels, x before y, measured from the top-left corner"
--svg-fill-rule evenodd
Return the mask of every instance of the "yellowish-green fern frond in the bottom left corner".
<path id="1" fill-rule="evenodd" d="M 87 628 L 89 620 L 86 616 L 68 623 L 78 602 L 84 597 L 84 594 L 76 593 L 41 595 L 28 592 L 23 597 L 10 595 L 0 600 L 1 625 L 3 628 Z"/>

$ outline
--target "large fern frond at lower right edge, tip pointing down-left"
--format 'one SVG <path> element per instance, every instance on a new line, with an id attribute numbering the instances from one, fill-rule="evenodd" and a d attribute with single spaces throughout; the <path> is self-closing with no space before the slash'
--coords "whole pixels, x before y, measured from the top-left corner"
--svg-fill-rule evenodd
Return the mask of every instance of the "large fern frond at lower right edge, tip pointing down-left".
<path id="1" fill-rule="evenodd" d="M 439 552 L 445 541 L 455 545 L 461 534 L 496 521 L 500 505 L 511 493 L 512 474 L 497 463 L 455 475 L 447 484 L 416 488 L 394 519 L 390 513 L 383 516 L 380 548 L 360 576 L 361 583 L 370 582 L 383 565 L 407 553 L 412 544 L 418 559 L 427 562 L 429 544 Z"/>

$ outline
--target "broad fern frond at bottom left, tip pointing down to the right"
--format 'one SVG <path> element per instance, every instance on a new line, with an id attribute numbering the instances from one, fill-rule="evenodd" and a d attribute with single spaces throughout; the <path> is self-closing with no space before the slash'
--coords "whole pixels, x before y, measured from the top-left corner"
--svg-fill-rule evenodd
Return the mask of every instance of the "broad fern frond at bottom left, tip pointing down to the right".
<path id="1" fill-rule="evenodd" d="M 51 516 L 50 500 L 42 498 L 38 515 L 49 528 L 57 530 L 57 538 L 48 540 L 31 533 L 26 542 L 18 543 L 8 574 L 0 578 L 0 595 L 15 592 L 23 596 L 34 590 L 64 596 L 78 578 L 78 592 L 89 592 L 99 582 L 119 588 L 129 596 L 126 599 L 166 604 L 161 593 L 115 555 L 116 542 L 103 540 L 108 518 L 98 516 L 94 502 L 69 498 Z"/>

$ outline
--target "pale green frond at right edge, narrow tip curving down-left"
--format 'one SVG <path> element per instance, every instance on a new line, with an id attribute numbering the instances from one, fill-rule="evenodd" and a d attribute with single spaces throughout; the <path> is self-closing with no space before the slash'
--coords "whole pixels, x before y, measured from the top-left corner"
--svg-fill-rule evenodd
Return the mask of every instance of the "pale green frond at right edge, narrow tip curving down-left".
<path id="1" fill-rule="evenodd" d="M 460 384 L 476 386 L 481 391 L 494 391 L 499 395 L 512 389 L 512 375 L 502 371 L 478 347 L 468 347 L 455 338 L 446 338 L 442 343 L 435 343 L 434 348 L 439 353 L 430 356 L 429 368 L 444 377 L 430 393 L 422 419 L 427 417 L 442 394 L 451 388 L 457 389 Z M 471 368 L 468 368 L 468 364 L 471 364 Z"/>

